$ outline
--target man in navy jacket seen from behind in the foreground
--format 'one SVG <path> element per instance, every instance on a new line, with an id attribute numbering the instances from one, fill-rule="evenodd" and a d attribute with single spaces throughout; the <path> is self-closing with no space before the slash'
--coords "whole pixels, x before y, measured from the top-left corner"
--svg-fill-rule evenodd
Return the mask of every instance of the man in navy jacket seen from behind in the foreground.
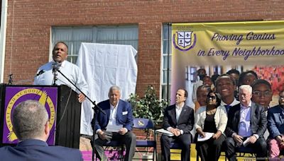
<path id="1" fill-rule="evenodd" d="M 45 143 L 50 134 L 48 112 L 38 101 L 26 100 L 17 105 L 12 123 L 20 142 L 15 147 L 0 148 L 0 160 L 83 160 L 80 150 Z"/>

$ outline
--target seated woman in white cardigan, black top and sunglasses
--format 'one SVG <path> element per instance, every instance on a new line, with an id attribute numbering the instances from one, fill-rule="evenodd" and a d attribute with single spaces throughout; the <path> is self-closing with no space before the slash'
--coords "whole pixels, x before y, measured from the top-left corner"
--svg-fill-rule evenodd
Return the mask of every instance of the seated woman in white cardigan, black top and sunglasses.
<path id="1" fill-rule="evenodd" d="M 221 154 L 222 143 L 226 136 L 226 108 L 220 106 L 221 99 L 218 93 L 210 91 L 207 95 L 207 106 L 201 107 L 199 117 L 195 122 L 195 129 L 199 137 L 205 138 L 205 133 L 212 133 L 206 141 L 197 141 L 196 149 L 201 160 L 218 160 Z"/>

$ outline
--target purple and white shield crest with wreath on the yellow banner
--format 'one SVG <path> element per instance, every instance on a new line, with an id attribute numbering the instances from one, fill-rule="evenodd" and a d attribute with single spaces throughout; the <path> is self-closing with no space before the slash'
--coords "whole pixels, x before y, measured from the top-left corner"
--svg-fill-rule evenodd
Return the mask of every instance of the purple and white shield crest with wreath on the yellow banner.
<path id="1" fill-rule="evenodd" d="M 180 51 L 188 51 L 195 47 L 196 35 L 193 31 L 178 31 L 173 34 L 173 45 Z"/>

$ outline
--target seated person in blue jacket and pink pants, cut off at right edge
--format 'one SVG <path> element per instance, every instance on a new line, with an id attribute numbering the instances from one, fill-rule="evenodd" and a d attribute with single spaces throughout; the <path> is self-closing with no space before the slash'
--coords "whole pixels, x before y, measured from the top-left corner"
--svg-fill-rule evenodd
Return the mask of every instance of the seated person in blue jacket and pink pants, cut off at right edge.
<path id="1" fill-rule="evenodd" d="M 284 90 L 279 93 L 279 105 L 268 109 L 268 151 L 271 159 L 279 159 L 284 150 Z"/>

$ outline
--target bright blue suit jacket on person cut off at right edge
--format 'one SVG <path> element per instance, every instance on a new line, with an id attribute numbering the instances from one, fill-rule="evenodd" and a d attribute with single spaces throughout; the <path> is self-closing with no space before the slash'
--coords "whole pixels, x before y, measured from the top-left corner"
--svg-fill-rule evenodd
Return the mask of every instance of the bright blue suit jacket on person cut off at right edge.
<path id="1" fill-rule="evenodd" d="M 283 108 L 279 105 L 268 109 L 267 128 L 270 134 L 268 138 L 284 134 L 284 114 L 282 112 Z"/>

